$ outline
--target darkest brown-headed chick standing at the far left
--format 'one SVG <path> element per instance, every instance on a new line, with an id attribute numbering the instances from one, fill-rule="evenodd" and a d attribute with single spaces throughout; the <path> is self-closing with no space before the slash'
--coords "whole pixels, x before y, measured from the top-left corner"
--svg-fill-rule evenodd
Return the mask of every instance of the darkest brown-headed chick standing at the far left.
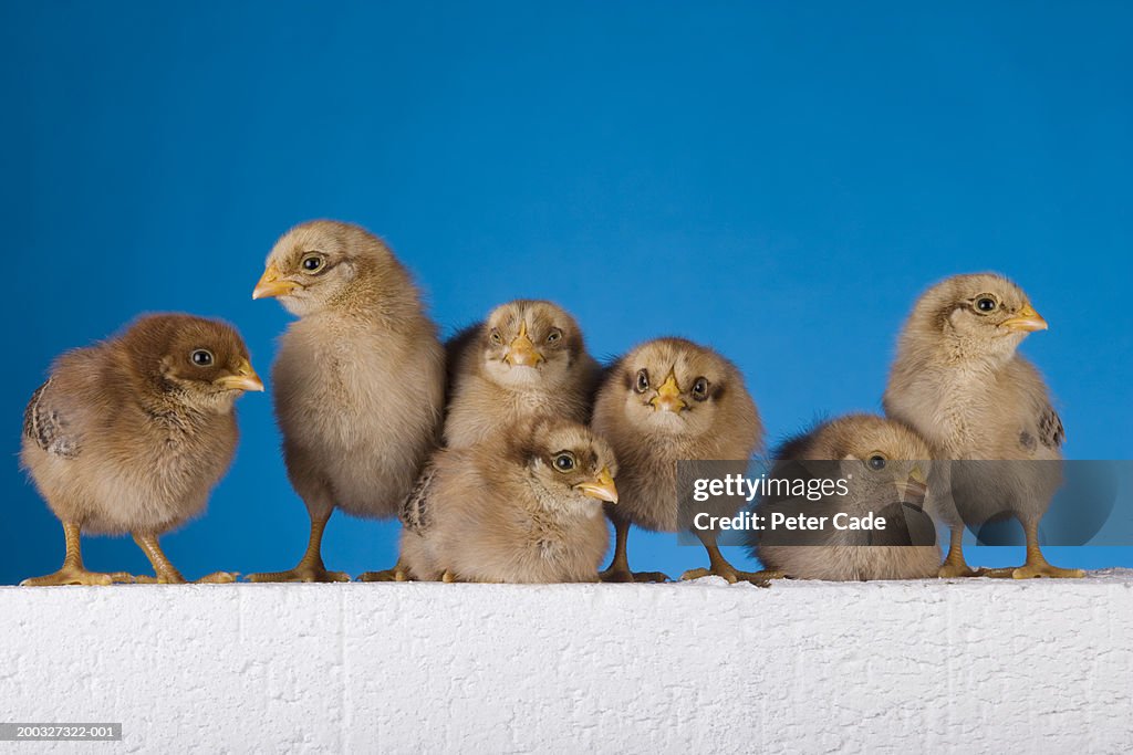
<path id="1" fill-rule="evenodd" d="M 79 543 L 82 533 L 127 532 L 157 582 L 185 582 L 157 538 L 204 511 L 236 452 L 233 402 L 263 389 L 239 334 L 188 315 L 143 317 L 60 357 L 24 413 L 20 461 L 62 522 L 67 550 L 62 568 L 23 584 L 131 582 L 88 572 Z"/>

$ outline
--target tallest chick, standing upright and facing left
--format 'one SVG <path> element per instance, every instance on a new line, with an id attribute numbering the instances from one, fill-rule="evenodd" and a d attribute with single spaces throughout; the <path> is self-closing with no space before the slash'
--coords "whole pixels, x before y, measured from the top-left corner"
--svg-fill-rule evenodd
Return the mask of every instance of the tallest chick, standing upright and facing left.
<path id="1" fill-rule="evenodd" d="M 299 319 L 272 369 L 288 478 L 307 505 L 298 566 L 253 582 L 344 582 L 323 565 L 335 508 L 398 514 L 436 441 L 444 353 L 409 272 L 366 230 L 314 221 L 280 238 L 253 299 L 275 297 Z M 394 578 L 398 567 L 360 578 Z"/>

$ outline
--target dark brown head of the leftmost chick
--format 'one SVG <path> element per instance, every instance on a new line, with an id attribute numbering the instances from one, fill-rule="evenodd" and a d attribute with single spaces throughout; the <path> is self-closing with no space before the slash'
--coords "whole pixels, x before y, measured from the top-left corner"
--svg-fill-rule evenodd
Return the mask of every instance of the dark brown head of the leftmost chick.
<path id="1" fill-rule="evenodd" d="M 190 315 L 151 315 L 122 336 L 135 371 L 196 409 L 223 411 L 246 391 L 263 391 L 236 328 Z"/>

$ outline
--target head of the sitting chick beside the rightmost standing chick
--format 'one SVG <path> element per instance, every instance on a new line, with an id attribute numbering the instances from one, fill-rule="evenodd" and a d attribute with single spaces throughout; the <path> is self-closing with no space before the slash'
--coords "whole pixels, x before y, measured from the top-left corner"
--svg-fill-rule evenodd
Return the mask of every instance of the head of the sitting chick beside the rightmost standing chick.
<path id="1" fill-rule="evenodd" d="M 931 452 L 911 429 L 875 414 L 851 414 L 821 428 L 809 454 L 837 462 L 857 501 L 923 506 Z"/>

